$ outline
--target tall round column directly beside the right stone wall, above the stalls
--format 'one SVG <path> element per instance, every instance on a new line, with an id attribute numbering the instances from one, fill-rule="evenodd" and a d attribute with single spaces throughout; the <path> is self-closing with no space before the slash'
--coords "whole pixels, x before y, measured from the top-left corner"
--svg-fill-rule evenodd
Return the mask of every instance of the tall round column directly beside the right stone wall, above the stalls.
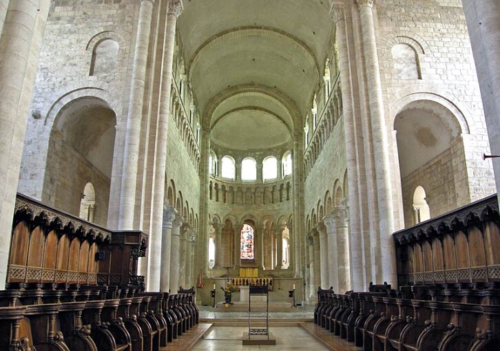
<path id="1" fill-rule="evenodd" d="M 379 279 L 388 284 L 397 284 L 396 262 L 394 255 L 394 211 L 393 194 L 390 183 L 390 162 L 388 150 L 388 136 L 384 102 L 382 100 L 382 83 L 380 81 L 379 61 L 377 56 L 377 41 L 373 24 L 373 0 L 357 0 L 360 10 L 363 51 L 366 62 L 366 78 L 368 100 L 370 105 L 371 131 L 373 136 L 373 157 L 375 159 L 375 178 L 377 186 L 377 209 L 379 212 L 379 226 L 376 238 L 378 243 L 375 253 L 375 268 L 382 273 Z"/>

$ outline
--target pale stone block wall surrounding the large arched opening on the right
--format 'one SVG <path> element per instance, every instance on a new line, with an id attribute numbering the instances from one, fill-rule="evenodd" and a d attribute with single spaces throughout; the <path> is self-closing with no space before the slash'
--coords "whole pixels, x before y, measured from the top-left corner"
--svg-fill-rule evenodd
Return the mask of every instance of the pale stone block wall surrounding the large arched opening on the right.
<path id="1" fill-rule="evenodd" d="M 415 100 L 441 103 L 463 126 L 463 160 L 467 164 L 468 182 L 460 187 L 468 187 L 468 198 L 457 203 L 494 193 L 491 162 L 481 159 L 482 153 L 489 152 L 488 135 L 461 1 L 377 1 L 374 13 L 388 129 L 393 129 L 395 116 L 405 103 Z M 406 43 L 417 53 L 421 79 L 397 78 L 390 51 L 398 43 Z M 397 187 L 397 180 L 393 184 Z M 455 184 L 457 189 L 458 186 Z M 403 192 L 410 190 L 415 189 Z M 443 206 L 448 208 L 448 204 Z"/>

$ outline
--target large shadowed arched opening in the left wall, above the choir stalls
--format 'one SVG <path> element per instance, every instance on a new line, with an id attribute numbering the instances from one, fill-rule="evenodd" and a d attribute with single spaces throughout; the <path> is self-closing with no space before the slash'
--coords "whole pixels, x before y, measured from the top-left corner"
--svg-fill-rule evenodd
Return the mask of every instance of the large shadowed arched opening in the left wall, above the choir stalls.
<path id="1" fill-rule="evenodd" d="M 43 202 L 89 219 L 92 201 L 98 209 L 92 222 L 107 224 L 115 125 L 114 111 L 99 98 L 78 98 L 61 109 L 50 134 Z M 89 206 L 82 209 L 82 200 Z"/>

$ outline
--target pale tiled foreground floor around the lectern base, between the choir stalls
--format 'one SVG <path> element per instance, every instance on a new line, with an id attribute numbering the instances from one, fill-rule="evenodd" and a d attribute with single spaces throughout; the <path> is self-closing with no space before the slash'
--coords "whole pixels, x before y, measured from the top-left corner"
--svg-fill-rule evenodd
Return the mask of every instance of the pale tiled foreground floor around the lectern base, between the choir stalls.
<path id="1" fill-rule="evenodd" d="M 215 326 L 205 339 L 198 341 L 193 350 L 240 351 L 240 350 L 329 350 L 317 342 L 306 330 L 300 327 L 273 327 L 269 332 L 276 339 L 276 345 L 242 345 L 243 333 L 247 327 Z"/>

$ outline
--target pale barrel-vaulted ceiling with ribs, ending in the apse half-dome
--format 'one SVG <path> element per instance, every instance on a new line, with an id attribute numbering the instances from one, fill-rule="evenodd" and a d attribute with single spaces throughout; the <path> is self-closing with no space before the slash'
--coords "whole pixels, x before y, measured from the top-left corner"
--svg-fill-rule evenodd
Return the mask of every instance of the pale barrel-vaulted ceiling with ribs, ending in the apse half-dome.
<path id="1" fill-rule="evenodd" d="M 330 55 L 331 1 L 183 3 L 178 30 L 186 72 L 213 142 L 232 149 L 290 142 Z"/>

